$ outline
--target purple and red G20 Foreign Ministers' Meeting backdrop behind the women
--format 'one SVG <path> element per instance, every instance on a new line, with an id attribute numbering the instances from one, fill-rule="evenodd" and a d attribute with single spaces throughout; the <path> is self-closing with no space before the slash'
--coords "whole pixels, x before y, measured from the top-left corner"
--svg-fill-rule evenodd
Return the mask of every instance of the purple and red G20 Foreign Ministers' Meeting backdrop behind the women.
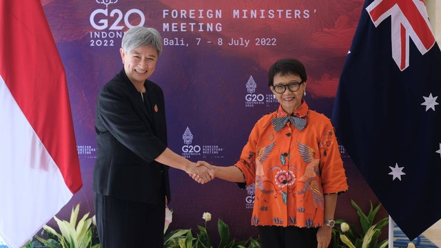
<path id="1" fill-rule="evenodd" d="M 338 80 L 356 30 L 363 0 L 178 1 L 42 0 L 65 67 L 83 176 L 83 188 L 59 214 L 94 214 L 92 172 L 96 156 L 94 112 L 99 88 L 123 68 L 119 48 L 132 26 L 156 28 L 164 52 L 150 78 L 163 88 L 169 146 L 190 161 L 233 165 L 254 123 L 278 107 L 267 70 L 284 57 L 299 59 L 308 74 L 305 99 L 329 118 Z M 376 196 L 341 147 L 349 192 L 339 197 L 336 218 L 358 221 Z M 214 180 L 198 185 L 170 169 L 173 223 L 170 229 L 204 225 L 217 236 L 217 220 L 232 236 L 257 236 L 251 226 L 254 188 Z M 384 211 L 381 213 L 383 216 Z M 379 214 L 379 215 L 381 215 Z"/>

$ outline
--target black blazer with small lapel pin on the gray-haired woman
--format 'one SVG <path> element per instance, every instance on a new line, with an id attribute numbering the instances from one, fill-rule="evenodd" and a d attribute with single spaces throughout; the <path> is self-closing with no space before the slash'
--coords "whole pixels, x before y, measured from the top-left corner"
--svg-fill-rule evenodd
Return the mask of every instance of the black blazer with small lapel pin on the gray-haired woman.
<path id="1" fill-rule="evenodd" d="M 144 85 L 149 108 L 124 70 L 99 92 L 94 192 L 143 203 L 165 192 L 170 201 L 168 166 L 154 161 L 167 147 L 164 95 L 156 83 Z"/>

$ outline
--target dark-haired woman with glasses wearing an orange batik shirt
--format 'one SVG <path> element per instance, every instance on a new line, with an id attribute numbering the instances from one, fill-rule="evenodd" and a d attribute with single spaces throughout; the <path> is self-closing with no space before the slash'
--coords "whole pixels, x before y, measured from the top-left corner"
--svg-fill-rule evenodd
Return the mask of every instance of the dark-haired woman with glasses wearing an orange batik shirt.
<path id="1" fill-rule="evenodd" d="M 198 166 L 212 178 L 255 184 L 252 225 L 262 247 L 328 247 L 337 196 L 348 190 L 334 127 L 302 100 L 307 74 L 300 61 L 276 61 L 268 79 L 280 106 L 254 125 L 240 160 Z"/>

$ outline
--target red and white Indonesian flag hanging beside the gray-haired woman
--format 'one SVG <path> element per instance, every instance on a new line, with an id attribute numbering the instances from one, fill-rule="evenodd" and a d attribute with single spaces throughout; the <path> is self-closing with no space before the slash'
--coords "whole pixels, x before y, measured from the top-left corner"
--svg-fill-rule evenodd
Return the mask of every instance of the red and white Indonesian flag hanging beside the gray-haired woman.
<path id="1" fill-rule="evenodd" d="M 0 237 L 13 248 L 82 181 L 65 72 L 40 0 L 1 0 L 0 36 Z"/>

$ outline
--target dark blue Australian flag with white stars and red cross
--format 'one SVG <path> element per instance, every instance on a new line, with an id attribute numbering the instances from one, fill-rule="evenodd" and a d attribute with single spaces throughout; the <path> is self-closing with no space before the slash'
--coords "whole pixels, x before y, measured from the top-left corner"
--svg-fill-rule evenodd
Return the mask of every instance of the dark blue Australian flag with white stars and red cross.
<path id="1" fill-rule="evenodd" d="M 441 51 L 422 0 L 367 0 L 340 76 L 338 141 L 410 240 L 441 218 Z"/>

